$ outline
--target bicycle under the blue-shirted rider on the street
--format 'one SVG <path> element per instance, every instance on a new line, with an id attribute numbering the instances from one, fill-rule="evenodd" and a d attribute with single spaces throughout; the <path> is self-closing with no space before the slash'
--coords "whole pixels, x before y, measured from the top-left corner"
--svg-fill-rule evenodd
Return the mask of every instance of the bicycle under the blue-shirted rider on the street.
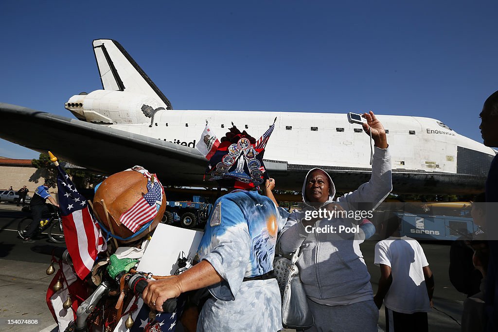
<path id="1" fill-rule="evenodd" d="M 64 231 L 62 228 L 62 219 L 60 215 L 60 210 L 56 207 L 51 207 L 50 204 L 47 204 L 49 206 L 49 210 L 53 210 L 51 213 L 43 215 L 42 216 L 42 221 L 38 223 L 38 229 L 37 233 L 41 234 L 43 231 L 47 230 L 48 232 L 48 238 L 55 243 L 64 243 Z M 26 231 L 29 228 L 29 225 L 31 224 L 31 221 L 33 220 L 32 217 L 26 217 L 19 221 L 19 224 L 17 225 L 17 233 L 19 234 L 19 237 L 24 239 L 26 238 Z"/>

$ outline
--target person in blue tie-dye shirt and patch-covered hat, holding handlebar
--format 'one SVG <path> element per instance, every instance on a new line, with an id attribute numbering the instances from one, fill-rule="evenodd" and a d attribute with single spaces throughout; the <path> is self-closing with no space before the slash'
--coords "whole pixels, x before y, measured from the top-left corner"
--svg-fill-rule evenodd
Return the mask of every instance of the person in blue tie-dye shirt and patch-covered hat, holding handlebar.
<path id="1" fill-rule="evenodd" d="M 237 189 L 216 201 L 197 251 L 200 262 L 179 276 L 149 283 L 143 299 L 151 308 L 160 311 L 165 300 L 207 287 L 211 297 L 202 307 L 198 332 L 282 329 L 272 263 L 286 220 L 270 198 L 254 190 L 268 180 L 263 151 L 264 144 L 235 126 L 221 139 L 207 174 L 220 186 Z"/>

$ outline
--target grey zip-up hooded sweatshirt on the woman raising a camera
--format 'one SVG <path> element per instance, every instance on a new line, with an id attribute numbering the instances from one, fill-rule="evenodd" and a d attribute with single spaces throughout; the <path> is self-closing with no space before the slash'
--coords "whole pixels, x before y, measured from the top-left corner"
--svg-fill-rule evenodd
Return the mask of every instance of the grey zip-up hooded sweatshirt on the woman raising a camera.
<path id="1" fill-rule="evenodd" d="M 316 170 L 312 169 L 310 172 Z M 309 173 L 308 172 L 308 175 Z M 347 305 L 373 299 L 370 274 L 360 250 L 359 234 L 345 232 L 307 232 L 300 222 L 306 212 L 315 210 L 306 198 L 304 179 L 302 195 L 305 204 L 303 210 L 294 211 L 279 235 L 279 247 L 282 253 L 291 253 L 300 248 L 299 259 L 296 265 L 299 268 L 301 281 L 307 296 L 324 305 Z M 328 175 L 328 174 L 327 174 Z M 358 209 L 355 203 L 372 203 L 371 209 L 376 208 L 392 190 L 391 157 L 388 149 L 375 147 L 373 154 L 372 176 L 369 182 L 361 185 L 357 190 L 345 194 L 334 201 L 335 187 L 330 178 L 329 199 L 322 205 L 338 202 L 345 210 Z M 323 219 L 315 223 L 316 227 L 339 225 L 351 226 L 352 219 Z M 360 234 L 361 235 L 361 234 Z"/>

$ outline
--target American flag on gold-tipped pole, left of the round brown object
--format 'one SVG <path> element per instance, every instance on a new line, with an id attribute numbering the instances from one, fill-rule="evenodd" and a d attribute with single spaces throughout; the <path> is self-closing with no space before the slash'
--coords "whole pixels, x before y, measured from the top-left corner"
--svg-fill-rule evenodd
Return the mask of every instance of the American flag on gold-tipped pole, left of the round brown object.
<path id="1" fill-rule="evenodd" d="M 67 250 L 76 274 L 84 279 L 92 270 L 97 254 L 105 250 L 105 241 L 88 210 L 87 200 L 76 190 L 64 169 L 60 165 L 57 169 L 59 207 Z"/>

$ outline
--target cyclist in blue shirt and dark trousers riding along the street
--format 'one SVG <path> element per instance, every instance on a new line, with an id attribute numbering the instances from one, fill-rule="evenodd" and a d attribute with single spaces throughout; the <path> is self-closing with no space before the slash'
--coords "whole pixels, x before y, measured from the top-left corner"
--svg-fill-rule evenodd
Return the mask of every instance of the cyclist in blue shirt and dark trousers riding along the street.
<path id="1" fill-rule="evenodd" d="M 42 216 L 49 214 L 50 210 L 45 203 L 48 200 L 52 205 L 57 208 L 59 205 L 55 202 L 54 198 L 50 196 L 48 193 L 48 188 L 52 187 L 54 182 L 52 180 L 45 180 L 43 185 L 36 188 L 34 191 L 33 198 L 31 199 L 30 207 L 31 207 L 31 216 L 33 217 L 33 221 L 29 224 L 29 227 L 26 231 L 26 236 L 24 237 L 24 243 L 34 243 L 35 241 L 32 237 L 35 235 L 36 230 L 38 229 L 38 225 L 42 220 Z"/>

